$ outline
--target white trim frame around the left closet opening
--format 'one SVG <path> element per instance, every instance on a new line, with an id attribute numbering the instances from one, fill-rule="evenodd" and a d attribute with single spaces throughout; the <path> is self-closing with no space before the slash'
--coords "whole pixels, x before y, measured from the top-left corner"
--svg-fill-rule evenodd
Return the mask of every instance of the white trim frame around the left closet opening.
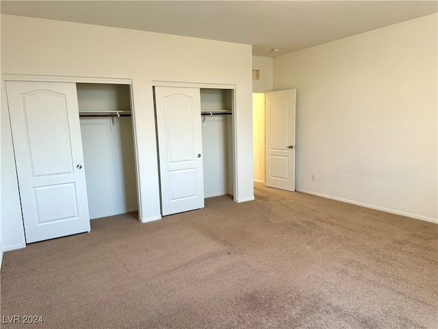
<path id="1" fill-rule="evenodd" d="M 86 84 L 125 84 L 129 85 L 129 97 L 131 101 L 131 121 L 132 121 L 132 133 L 133 133 L 133 145 L 134 145 L 134 162 L 136 164 L 136 185 L 137 185 L 137 203 L 138 203 L 138 220 L 142 219 L 142 202 L 140 194 L 140 178 L 138 173 L 138 145 L 137 145 L 137 133 L 136 133 L 136 111 L 133 102 L 133 90 L 131 79 L 118 79 L 118 78 L 103 78 L 103 77 L 64 77 L 64 76 L 48 76 L 48 75 L 13 75 L 3 74 L 1 75 L 3 88 L 5 88 L 5 82 L 7 81 L 22 81 L 22 82 L 70 82 L 70 83 L 86 83 Z M 4 90 L 5 91 L 5 90 Z M 6 95 L 6 93 L 5 93 Z M 3 101 L 2 101 L 3 103 Z M 8 113 L 9 117 L 9 113 Z M 13 145 L 13 142 L 12 142 Z M 12 146 L 12 149 L 14 147 Z M 14 151 L 14 149 L 13 149 Z M 14 166 L 16 167 L 15 152 L 14 152 Z M 18 177 L 15 171 L 15 178 L 18 186 Z M 21 199 L 20 199 L 21 202 Z M 22 215 L 23 221 L 23 215 Z M 23 227 L 24 233 L 24 227 Z"/>

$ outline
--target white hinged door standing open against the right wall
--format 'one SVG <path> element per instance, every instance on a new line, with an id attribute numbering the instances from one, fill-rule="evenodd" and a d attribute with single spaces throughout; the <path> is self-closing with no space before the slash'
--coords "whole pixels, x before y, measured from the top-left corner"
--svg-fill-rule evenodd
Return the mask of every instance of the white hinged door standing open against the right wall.
<path id="1" fill-rule="evenodd" d="M 266 186 L 287 191 L 295 191 L 295 94 L 265 94 Z"/>

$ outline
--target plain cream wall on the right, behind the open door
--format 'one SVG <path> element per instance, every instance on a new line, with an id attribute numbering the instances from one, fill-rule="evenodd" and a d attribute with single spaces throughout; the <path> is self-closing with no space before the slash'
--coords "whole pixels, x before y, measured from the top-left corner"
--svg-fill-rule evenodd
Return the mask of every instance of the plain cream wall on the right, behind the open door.
<path id="1" fill-rule="evenodd" d="M 297 89 L 298 191 L 438 222 L 437 17 L 275 58 L 274 89 Z"/>

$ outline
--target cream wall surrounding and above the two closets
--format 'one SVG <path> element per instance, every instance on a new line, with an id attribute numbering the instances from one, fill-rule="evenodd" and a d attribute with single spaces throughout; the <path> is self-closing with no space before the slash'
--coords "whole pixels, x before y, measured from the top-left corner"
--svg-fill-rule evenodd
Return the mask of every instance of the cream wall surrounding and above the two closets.
<path id="1" fill-rule="evenodd" d="M 251 62 L 250 45 L 21 16 L 2 15 L 1 18 L 3 74 L 132 80 L 142 221 L 161 218 L 153 81 L 236 86 L 235 199 L 244 202 L 254 198 Z M 2 115 L 7 110 L 3 104 L 1 110 Z M 5 134 L 7 136 L 8 131 Z M 2 151 L 3 144 L 10 147 L 10 140 L 1 142 Z M 6 175 L 12 177 L 10 184 L 15 184 L 8 186 L 8 191 L 15 193 L 12 149 L 5 152 L 2 166 L 5 164 Z M 2 199 L 2 210 L 17 206 L 17 200 L 3 204 Z M 21 223 L 21 215 L 14 214 L 4 221 L 3 239 L 9 236 L 12 227 Z"/>

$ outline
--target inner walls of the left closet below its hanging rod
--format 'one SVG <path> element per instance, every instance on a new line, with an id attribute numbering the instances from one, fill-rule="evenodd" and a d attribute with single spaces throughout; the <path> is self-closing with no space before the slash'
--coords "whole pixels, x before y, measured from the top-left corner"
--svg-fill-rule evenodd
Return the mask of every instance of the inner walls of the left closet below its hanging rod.
<path id="1" fill-rule="evenodd" d="M 131 118 L 81 118 L 90 219 L 136 211 L 136 164 Z"/>

